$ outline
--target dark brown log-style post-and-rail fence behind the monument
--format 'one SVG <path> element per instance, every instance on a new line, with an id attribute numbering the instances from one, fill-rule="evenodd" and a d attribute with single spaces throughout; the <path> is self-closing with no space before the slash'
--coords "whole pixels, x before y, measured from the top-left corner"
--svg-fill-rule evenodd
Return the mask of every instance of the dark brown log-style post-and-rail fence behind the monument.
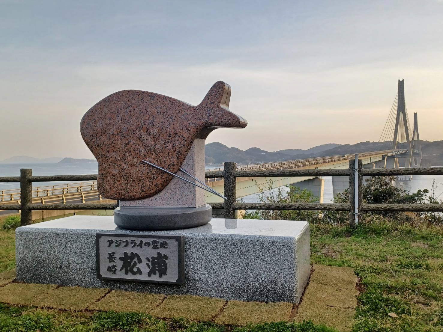
<path id="1" fill-rule="evenodd" d="M 237 170 L 234 162 L 225 162 L 223 171 L 208 171 L 206 178 L 224 178 L 223 203 L 208 203 L 213 208 L 223 209 L 225 218 L 235 218 L 236 210 L 311 210 L 311 211 L 348 211 L 350 224 L 354 225 L 356 217 L 366 211 L 416 211 L 443 212 L 443 204 L 362 204 L 361 186 L 363 176 L 396 176 L 396 175 L 442 175 L 443 167 L 411 167 L 395 169 L 364 169 L 361 160 L 357 169 L 354 160 L 350 159 L 349 169 L 330 170 Z M 350 202 L 338 203 L 238 203 L 236 201 L 237 178 L 249 177 L 306 177 L 306 176 L 349 176 Z M 33 210 L 95 210 L 114 209 L 117 204 L 68 203 L 65 204 L 35 204 L 32 201 L 32 183 L 39 181 L 94 181 L 97 174 L 89 175 L 51 175 L 32 176 L 32 170 L 21 169 L 19 177 L 0 177 L 0 182 L 20 182 L 20 204 L 0 205 L 0 210 L 21 210 L 21 224 L 31 223 Z M 356 185 L 357 184 L 357 185 Z M 357 190 L 355 190 L 357 189 Z M 357 202 L 357 204 L 356 204 Z"/>

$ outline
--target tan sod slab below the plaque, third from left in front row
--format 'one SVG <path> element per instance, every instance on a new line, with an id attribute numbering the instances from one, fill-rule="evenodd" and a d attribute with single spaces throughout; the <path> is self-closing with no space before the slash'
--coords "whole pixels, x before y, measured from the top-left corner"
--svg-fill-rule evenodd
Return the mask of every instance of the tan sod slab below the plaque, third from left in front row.
<path id="1" fill-rule="evenodd" d="M 163 300 L 163 294 L 125 292 L 113 290 L 88 309 L 148 313 Z"/>

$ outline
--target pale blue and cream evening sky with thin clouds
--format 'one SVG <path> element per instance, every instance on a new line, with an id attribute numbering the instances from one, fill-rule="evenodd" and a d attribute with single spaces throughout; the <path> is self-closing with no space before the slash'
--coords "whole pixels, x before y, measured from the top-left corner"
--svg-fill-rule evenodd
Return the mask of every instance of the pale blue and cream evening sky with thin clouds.
<path id="1" fill-rule="evenodd" d="M 231 85 L 243 150 L 378 141 L 404 78 L 420 139 L 442 140 L 443 1 L 0 0 L 0 160 L 92 158 L 80 120 L 139 89 L 198 104 Z"/>

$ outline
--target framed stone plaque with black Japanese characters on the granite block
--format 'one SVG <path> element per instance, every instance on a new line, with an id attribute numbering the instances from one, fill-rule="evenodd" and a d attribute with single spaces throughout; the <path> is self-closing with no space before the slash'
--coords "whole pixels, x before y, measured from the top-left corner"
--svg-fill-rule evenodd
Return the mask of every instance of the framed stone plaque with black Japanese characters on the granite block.
<path id="1" fill-rule="evenodd" d="M 99 279 L 185 282 L 183 235 L 96 233 L 96 250 Z"/>

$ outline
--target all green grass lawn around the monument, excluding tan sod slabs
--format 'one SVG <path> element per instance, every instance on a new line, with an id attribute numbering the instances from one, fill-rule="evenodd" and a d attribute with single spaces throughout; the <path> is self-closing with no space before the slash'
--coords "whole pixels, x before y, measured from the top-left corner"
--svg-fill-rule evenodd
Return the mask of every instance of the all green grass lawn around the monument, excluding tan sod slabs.
<path id="1" fill-rule="evenodd" d="M 0 230 L 0 272 L 14 267 L 14 231 Z M 443 331 L 443 228 L 356 230 L 311 225 L 311 263 L 349 266 L 361 280 L 354 331 Z M 305 323 L 242 328 L 144 313 L 75 312 L 0 304 L 0 331 L 334 331 Z"/>

